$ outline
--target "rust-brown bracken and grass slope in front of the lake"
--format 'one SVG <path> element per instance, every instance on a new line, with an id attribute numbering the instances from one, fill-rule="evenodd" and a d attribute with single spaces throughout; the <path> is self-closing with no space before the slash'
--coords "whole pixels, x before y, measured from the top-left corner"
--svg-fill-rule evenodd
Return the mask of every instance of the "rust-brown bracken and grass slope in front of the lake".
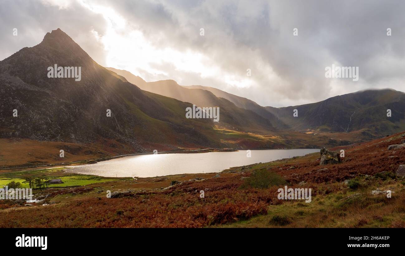
<path id="1" fill-rule="evenodd" d="M 63 168 L 1 173 L 7 181 L 45 174 L 71 182 L 34 191 L 49 196 L 33 207 L 2 200 L 0 227 L 405 227 L 405 181 L 395 175 L 405 149 L 387 149 L 403 139 L 405 134 L 396 134 L 335 148 L 345 149 L 339 164 L 320 166 L 316 153 L 219 175 L 135 180 L 77 175 Z M 311 203 L 277 199 L 283 186 L 311 188 Z M 387 198 L 372 190 L 394 193 Z"/>

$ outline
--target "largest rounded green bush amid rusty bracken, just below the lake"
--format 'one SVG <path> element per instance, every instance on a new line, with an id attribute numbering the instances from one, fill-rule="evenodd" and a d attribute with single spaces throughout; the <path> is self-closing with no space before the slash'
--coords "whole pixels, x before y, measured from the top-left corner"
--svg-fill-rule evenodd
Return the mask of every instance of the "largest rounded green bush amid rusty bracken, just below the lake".
<path id="1" fill-rule="evenodd" d="M 269 188 L 270 186 L 283 184 L 286 184 L 286 181 L 277 173 L 259 169 L 254 171 L 249 179 L 244 179 L 241 188 Z"/>

